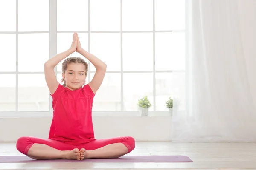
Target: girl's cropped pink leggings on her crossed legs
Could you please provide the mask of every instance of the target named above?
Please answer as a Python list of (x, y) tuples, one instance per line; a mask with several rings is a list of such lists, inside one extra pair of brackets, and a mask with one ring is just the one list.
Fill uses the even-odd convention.
[(29, 137), (29, 136), (23, 136), (20, 137), (17, 140), (16, 147), (17, 150), (23, 153), (24, 155), (27, 155), (30, 147), (34, 144), (46, 144), (50, 147), (53, 147), (58, 150), (73, 150), (75, 148), (78, 148), (79, 150), (81, 148), (84, 148), (85, 150), (95, 150), (100, 147), (104, 147), (108, 144), (114, 144), (114, 143), (122, 143), (127, 147), (128, 153), (134, 150), (135, 147), (135, 141), (134, 138), (130, 136), (125, 137), (116, 137), (116, 138), (110, 138), (110, 139), (95, 139), (88, 143), (83, 144), (67, 144), (61, 141), (56, 141), (52, 139), (41, 139), (41, 138), (35, 138), (35, 137)]

